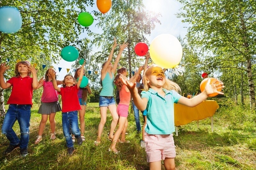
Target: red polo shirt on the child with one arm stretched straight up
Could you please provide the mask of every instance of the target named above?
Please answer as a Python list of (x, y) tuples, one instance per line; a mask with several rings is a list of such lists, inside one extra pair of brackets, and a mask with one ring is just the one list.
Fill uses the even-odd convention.
[(61, 101), (62, 101), (62, 112), (72, 112), (81, 110), (81, 106), (77, 96), (77, 85), (69, 87), (60, 87)]

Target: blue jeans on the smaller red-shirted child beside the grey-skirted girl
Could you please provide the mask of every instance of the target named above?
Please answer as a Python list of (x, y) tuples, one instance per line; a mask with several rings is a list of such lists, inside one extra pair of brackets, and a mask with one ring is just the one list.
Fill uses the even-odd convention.
[(64, 137), (66, 138), (67, 147), (73, 147), (71, 133), (75, 135), (76, 138), (81, 136), (78, 128), (77, 111), (62, 112), (62, 129)]

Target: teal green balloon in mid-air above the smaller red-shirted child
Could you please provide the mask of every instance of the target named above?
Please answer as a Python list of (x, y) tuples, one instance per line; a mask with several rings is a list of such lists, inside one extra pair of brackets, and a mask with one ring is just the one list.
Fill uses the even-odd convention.
[(60, 56), (63, 58), (63, 60), (72, 62), (78, 58), (79, 52), (76, 47), (67, 46), (61, 50)]

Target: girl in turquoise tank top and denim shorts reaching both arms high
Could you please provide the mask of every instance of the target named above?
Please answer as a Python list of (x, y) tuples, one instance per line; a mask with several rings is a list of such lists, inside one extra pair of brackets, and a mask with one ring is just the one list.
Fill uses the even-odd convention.
[(102, 82), (102, 90), (100, 92), (100, 102), (99, 102), (99, 107), (100, 107), (100, 124), (98, 128), (98, 137), (96, 141), (94, 141), (94, 144), (98, 146), (100, 144), (101, 140), (101, 134), (103, 132), (104, 125), (107, 120), (107, 110), (109, 109), (111, 115), (112, 115), (112, 122), (110, 126), (110, 132), (108, 136), (108, 140), (112, 140), (113, 138), (113, 133), (117, 125), (118, 121), (118, 115), (116, 113), (116, 101), (114, 99), (114, 73), (116, 72), (117, 64), (119, 62), (119, 59), (121, 57), (121, 54), (128, 46), (128, 43), (123, 43), (120, 45), (119, 53), (116, 56), (116, 61), (114, 65), (110, 63), (113, 57), (114, 49), (116, 48), (116, 38), (114, 39), (114, 45), (110, 51), (110, 54), (108, 56), (108, 60), (102, 64), (102, 69), (100, 71), (101, 76), (100, 80)]

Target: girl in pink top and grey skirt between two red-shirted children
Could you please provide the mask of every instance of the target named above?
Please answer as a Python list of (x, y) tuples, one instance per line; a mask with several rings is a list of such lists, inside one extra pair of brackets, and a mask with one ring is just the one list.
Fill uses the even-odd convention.
[[(42, 140), (44, 127), (48, 120), (48, 115), (49, 115), (49, 122), (51, 125), (51, 130), (52, 130), (50, 139), (52, 139), (52, 140), (56, 139), (55, 115), (56, 115), (56, 112), (61, 111), (61, 108), (60, 108), (60, 103), (59, 103), (59, 98), (58, 98), (58, 92), (53, 87), (52, 77), (49, 73), (49, 70), (52, 70), (53, 72), (55, 72), (55, 70), (53, 68), (48, 69), (44, 75), (44, 79), (41, 78), (41, 80), (39, 81), (39, 86), (36, 88), (36, 89), (39, 89), (40, 87), (43, 86), (43, 94), (41, 97), (42, 103), (37, 112), (39, 114), (42, 114), (42, 119), (39, 124), (38, 136), (35, 141), (35, 144), (39, 144), (39, 142), (41, 142), (41, 140)], [(56, 79), (56, 75), (55, 75), (55, 79)], [(57, 80), (57, 85), (61, 85), (61, 84), (62, 84), (62, 81)]]

